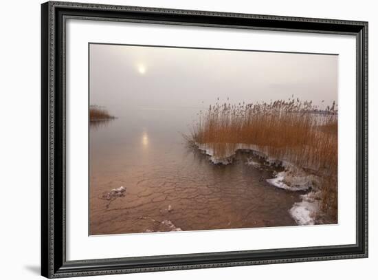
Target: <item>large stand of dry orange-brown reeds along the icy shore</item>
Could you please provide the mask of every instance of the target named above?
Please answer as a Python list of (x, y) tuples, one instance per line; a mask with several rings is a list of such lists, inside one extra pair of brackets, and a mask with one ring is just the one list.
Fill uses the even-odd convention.
[[(219, 98), (218, 98), (219, 100)], [(324, 110), (298, 98), (271, 103), (219, 103), (199, 112), (189, 137), (221, 158), (236, 144), (256, 145), (320, 176), (322, 210), (337, 217), (337, 105)]]

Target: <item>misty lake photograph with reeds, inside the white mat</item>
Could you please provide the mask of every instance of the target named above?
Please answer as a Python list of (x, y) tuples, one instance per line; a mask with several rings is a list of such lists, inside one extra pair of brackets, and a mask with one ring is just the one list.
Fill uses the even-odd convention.
[(337, 224), (337, 54), (88, 48), (89, 235)]

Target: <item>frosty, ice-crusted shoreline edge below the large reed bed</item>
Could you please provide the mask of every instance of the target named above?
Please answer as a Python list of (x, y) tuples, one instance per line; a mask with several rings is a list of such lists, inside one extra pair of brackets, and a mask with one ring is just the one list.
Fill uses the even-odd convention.
[[(227, 149), (225, 156), (222, 158), (216, 157), (214, 149), (207, 144), (195, 143), (195, 146), (201, 153), (208, 155), (210, 162), (213, 164), (228, 165), (234, 162), (234, 158), (238, 151), (251, 153), (252, 156), (258, 158), (259, 161), (249, 158), (247, 164), (260, 169), (262, 166), (282, 167), (283, 171), (275, 172), (274, 177), (266, 181), (272, 186), (286, 191), (308, 191), (308, 193), (301, 195), (302, 202), (296, 202), (289, 209), (289, 214), (296, 221), (298, 225), (313, 225), (317, 222), (317, 217), (320, 212), (320, 191), (316, 184), (319, 178), (315, 175), (306, 173), (298, 166), (294, 166), (285, 160), (278, 160), (269, 158), (258, 146), (252, 144), (232, 144), (232, 149)], [(315, 184), (314, 184), (315, 182)]]

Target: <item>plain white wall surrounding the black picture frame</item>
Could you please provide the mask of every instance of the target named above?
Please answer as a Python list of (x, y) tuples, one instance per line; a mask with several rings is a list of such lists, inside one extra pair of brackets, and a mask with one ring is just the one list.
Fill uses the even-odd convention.
[[(375, 1), (91, 1), (131, 6), (216, 10), (369, 21), (370, 257), (206, 270), (129, 274), (128, 279), (376, 279), (377, 27)], [(40, 266), (41, 1), (3, 1), (0, 17), (0, 278), (36, 279)], [(124, 275), (102, 279), (124, 279)], [(96, 279), (100, 277), (96, 277)]]

